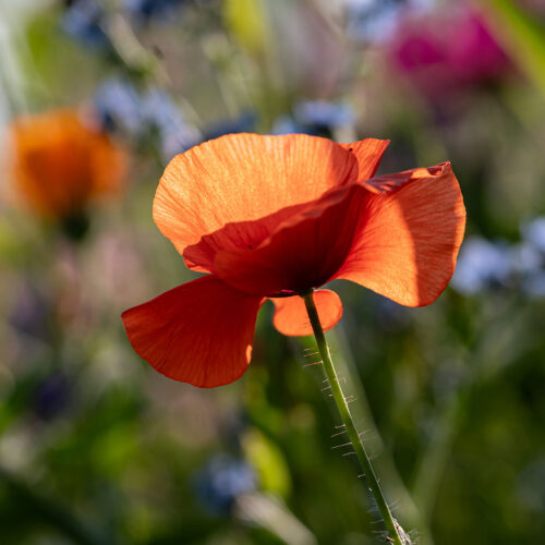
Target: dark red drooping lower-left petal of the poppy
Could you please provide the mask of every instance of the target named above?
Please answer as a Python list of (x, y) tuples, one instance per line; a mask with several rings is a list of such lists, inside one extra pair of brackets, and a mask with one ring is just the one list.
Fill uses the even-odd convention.
[(121, 317), (132, 347), (155, 370), (174, 380), (213, 388), (246, 371), (262, 301), (205, 276)]

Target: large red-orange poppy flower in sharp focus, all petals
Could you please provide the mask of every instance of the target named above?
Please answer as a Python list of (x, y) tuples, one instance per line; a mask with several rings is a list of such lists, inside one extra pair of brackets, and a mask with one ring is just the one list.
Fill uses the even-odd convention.
[[(312, 332), (299, 293), (346, 279), (421, 306), (447, 286), (465, 210), (450, 164), (374, 178), (388, 142), (302, 134), (232, 134), (177, 156), (154, 219), (193, 270), (207, 276), (122, 315), (134, 350), (199, 387), (246, 370), (266, 299), (284, 335)], [(315, 293), (326, 329), (337, 294)]]

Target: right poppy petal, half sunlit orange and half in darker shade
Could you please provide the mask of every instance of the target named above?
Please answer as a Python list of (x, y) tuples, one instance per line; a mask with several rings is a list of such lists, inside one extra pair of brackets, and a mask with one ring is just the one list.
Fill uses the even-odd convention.
[(397, 303), (424, 306), (446, 288), (465, 228), (465, 208), (450, 164), (366, 182), (372, 197), (354, 245), (335, 278)]

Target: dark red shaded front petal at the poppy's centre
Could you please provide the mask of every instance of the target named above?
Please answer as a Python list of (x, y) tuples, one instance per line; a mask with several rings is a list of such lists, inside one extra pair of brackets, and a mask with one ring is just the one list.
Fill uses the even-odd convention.
[(257, 249), (219, 251), (215, 274), (241, 291), (271, 298), (323, 286), (344, 263), (368, 195), (361, 184), (331, 190)]

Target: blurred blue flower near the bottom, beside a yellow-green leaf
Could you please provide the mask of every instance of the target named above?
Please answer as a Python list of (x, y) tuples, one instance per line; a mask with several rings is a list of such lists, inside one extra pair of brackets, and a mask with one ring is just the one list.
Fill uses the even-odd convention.
[(194, 486), (209, 511), (228, 514), (239, 495), (255, 491), (256, 477), (246, 462), (218, 455), (196, 474)]

